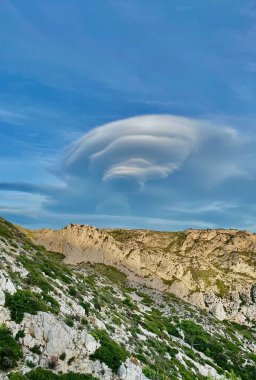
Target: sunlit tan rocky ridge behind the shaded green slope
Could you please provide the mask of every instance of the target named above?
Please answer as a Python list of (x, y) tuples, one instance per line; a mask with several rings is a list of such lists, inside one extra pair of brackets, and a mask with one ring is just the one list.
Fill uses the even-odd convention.
[(256, 320), (256, 234), (238, 230), (98, 229), (69, 225), (28, 232), (65, 262), (113, 265), (130, 279), (168, 291), (220, 320)]

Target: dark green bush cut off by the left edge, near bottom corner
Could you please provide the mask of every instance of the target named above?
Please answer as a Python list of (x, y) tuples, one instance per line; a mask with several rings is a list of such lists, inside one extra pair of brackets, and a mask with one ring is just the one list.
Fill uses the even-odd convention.
[(9, 370), (14, 368), (19, 359), (22, 358), (20, 344), (13, 338), (10, 330), (0, 326), (0, 369)]

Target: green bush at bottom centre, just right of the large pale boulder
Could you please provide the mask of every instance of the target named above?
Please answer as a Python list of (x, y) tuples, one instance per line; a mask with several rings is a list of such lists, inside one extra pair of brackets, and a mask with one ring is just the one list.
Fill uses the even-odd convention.
[(128, 352), (114, 342), (104, 330), (94, 331), (93, 335), (100, 341), (101, 346), (90, 358), (105, 363), (117, 373), (120, 365), (127, 359)]

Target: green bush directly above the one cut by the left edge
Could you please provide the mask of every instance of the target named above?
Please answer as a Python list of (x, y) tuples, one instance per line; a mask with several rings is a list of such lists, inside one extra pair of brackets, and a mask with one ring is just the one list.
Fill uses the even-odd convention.
[(24, 313), (35, 315), (38, 311), (47, 311), (40, 295), (29, 290), (17, 290), (13, 295), (6, 293), (5, 306), (10, 310), (11, 318), (16, 323), (22, 321)]

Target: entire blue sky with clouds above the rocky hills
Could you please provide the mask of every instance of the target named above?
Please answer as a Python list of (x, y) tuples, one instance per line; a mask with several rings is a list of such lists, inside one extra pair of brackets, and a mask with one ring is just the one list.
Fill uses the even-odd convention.
[(256, 4), (1, 0), (0, 215), (256, 232)]

